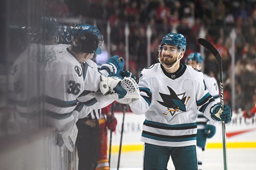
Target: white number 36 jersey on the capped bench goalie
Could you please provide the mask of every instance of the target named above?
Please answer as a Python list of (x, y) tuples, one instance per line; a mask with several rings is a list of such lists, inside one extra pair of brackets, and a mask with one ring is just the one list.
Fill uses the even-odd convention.
[(76, 98), (84, 90), (84, 70), (67, 48), (51, 48), (45, 57), (46, 121), (61, 130), (74, 121), (73, 111), (83, 108)]

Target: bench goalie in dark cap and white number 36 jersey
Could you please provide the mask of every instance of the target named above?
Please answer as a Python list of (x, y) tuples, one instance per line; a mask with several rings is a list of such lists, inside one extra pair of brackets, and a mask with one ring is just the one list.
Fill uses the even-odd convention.
[[(129, 93), (119, 85), (121, 79), (101, 76), (97, 68), (94, 69), (85, 63), (86, 60), (92, 58), (93, 54), (97, 54), (97, 50), (100, 49), (98, 46), (99, 37), (96, 36), (95, 33), (85, 31), (76, 34), (72, 39), (72, 44), (69, 48), (51, 48), (46, 54), (47, 65), (45, 69), (47, 80), (47, 122), (56, 127), (59, 131), (64, 129), (63, 132), (67, 132), (67, 134), (70, 131), (68, 130), (70, 128), (67, 126), (70, 125), (71, 129), (73, 129), (77, 118), (83, 118), (90, 113), (91, 108), (88, 107), (98, 101), (94, 97), (89, 101), (77, 104), (77, 100), (81, 101), (79, 100), (80, 98), (78, 98), (81, 97), (80, 95), (91, 91), (98, 91), (98, 96), (100, 97), (108, 92), (111, 92), (111, 96), (114, 96), (115, 99), (129, 96)], [(116, 60), (114, 62), (120, 63), (117, 58), (116, 60), (118, 62)], [(124, 61), (121, 63), (124, 63)], [(108, 65), (109, 67), (111, 66), (112, 69), (113, 63)], [(116, 70), (121, 69), (117, 67), (118, 64), (114, 66)], [(54, 89), (53, 87), (57, 87), (57, 85), (58, 88)], [(84, 87), (86, 87), (86, 91), (84, 91)], [(59, 89), (60, 92), (56, 91)], [(84, 105), (87, 107), (83, 107)], [(99, 108), (101, 107), (105, 106), (101, 104)], [(81, 111), (82, 108), (85, 109), (85, 111)], [(65, 131), (65, 129), (67, 130)]]

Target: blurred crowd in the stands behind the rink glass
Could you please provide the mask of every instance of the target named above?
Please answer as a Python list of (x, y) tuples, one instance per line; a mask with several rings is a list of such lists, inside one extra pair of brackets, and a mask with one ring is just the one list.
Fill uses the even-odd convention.
[[(46, 1), (48, 3), (48, 1)], [(151, 63), (157, 63), (158, 45), (163, 35), (176, 30), (187, 39), (184, 63), (190, 52), (199, 52), (199, 32), (204, 27), (205, 39), (223, 57), (225, 104), (231, 106), (231, 45), (235, 40), (235, 109), (250, 109), (256, 103), (256, 2), (231, 0), (83, 0), (49, 1), (48, 15), (84, 17), (97, 26), (107, 42), (107, 21), (111, 26), (111, 55), (125, 58), (125, 23), (129, 24), (129, 70), (135, 75), (147, 66), (147, 26), (152, 30)], [(58, 10), (53, 10), (56, 8)], [(106, 44), (105, 44), (106, 45)], [(204, 73), (219, 80), (216, 59), (206, 51)]]

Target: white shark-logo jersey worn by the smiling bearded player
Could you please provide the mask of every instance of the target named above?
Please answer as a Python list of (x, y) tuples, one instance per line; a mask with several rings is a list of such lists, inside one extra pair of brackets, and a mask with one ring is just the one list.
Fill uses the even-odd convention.
[(168, 73), (157, 63), (142, 70), (138, 86), (141, 98), (130, 107), (135, 114), (145, 113), (141, 141), (160, 146), (196, 145), (197, 112), (212, 120), (210, 109), (216, 104), (203, 73), (182, 64), (175, 73)]

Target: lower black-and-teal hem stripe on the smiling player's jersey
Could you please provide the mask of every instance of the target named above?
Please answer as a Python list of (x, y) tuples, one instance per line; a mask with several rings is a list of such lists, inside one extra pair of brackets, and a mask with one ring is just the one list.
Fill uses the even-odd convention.
[(188, 141), (188, 140), (195, 140), (196, 134), (191, 135), (181, 135), (181, 136), (168, 136), (168, 135), (160, 135), (152, 132), (148, 132), (145, 130), (142, 130), (143, 137), (147, 137), (150, 139), (160, 140), (160, 141), (168, 141), (168, 142), (182, 142), (182, 141)]

